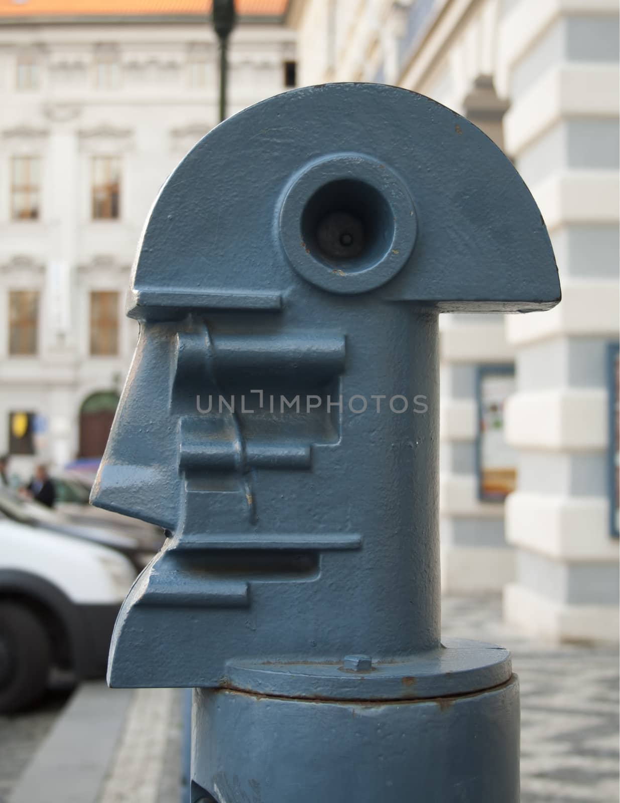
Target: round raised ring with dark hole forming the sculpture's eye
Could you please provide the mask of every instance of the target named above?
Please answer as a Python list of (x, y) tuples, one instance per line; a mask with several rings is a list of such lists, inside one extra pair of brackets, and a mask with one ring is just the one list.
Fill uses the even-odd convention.
[(294, 270), (317, 287), (360, 293), (401, 270), (417, 231), (406, 186), (387, 165), (337, 154), (296, 176), (279, 234)]

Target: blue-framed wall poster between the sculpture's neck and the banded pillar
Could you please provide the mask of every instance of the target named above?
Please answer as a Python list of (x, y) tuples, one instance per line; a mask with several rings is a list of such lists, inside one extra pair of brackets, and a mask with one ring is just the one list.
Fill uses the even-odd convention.
[(504, 437), (504, 406), (515, 392), (512, 365), (481, 365), (478, 369), (478, 495), (503, 502), (516, 487), (516, 451)]

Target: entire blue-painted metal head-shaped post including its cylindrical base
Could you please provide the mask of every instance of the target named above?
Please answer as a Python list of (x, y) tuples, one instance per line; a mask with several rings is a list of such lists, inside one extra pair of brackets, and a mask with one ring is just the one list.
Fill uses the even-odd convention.
[(440, 638), (437, 318), (559, 298), (511, 163), (413, 92), (276, 96), (169, 177), (93, 502), (169, 530), (109, 682), (196, 689), (192, 803), (518, 801), (510, 656)]

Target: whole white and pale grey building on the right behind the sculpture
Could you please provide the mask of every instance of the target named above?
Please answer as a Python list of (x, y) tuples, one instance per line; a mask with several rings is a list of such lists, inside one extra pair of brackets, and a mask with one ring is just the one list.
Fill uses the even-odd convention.
[(530, 633), (618, 638), (618, 3), (292, 0), (288, 21), (301, 85), (422, 92), (532, 190), (561, 305), (440, 316), (443, 583), (506, 586)]

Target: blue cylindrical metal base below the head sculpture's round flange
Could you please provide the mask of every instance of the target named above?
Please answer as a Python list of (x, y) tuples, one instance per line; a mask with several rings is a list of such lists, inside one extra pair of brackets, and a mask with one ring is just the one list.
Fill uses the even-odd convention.
[(192, 803), (518, 803), (518, 681), (377, 703), (197, 689), (192, 778)]

